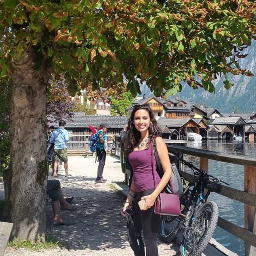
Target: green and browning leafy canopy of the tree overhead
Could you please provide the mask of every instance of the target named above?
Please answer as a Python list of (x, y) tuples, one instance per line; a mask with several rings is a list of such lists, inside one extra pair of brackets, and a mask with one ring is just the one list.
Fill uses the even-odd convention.
[[(119, 88), (133, 95), (137, 80), (156, 96), (185, 81), (213, 92), (212, 80), (241, 70), (256, 32), (256, 3), (248, 0), (5, 0), (0, 3), (0, 74), (32, 48), (34, 68), (45, 58), (65, 73), (69, 91)], [(224, 79), (224, 85), (232, 84)]]

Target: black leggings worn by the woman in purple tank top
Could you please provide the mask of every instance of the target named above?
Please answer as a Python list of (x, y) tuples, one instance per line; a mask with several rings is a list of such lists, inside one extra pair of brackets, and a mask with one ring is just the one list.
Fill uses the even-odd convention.
[[(138, 201), (140, 201), (140, 198), (142, 198), (142, 196), (148, 196), (153, 191), (154, 188), (138, 192), (134, 204), (138, 205)], [(152, 206), (146, 211), (142, 211), (139, 208), (138, 210), (140, 211), (140, 220), (138, 219), (139, 214), (136, 214), (136, 224), (141, 225), (142, 228), (143, 237), (146, 244), (146, 256), (158, 256), (157, 236), (159, 232), (160, 215), (154, 213), (154, 206)], [(135, 256), (140, 255), (135, 254)]]

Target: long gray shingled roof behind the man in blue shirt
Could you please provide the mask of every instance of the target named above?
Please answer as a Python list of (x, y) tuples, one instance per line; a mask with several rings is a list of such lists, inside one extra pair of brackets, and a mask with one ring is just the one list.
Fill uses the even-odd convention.
[[(110, 128), (124, 128), (128, 124), (129, 116), (86, 116), (84, 112), (74, 112), (72, 120), (66, 121), (66, 128), (84, 128), (88, 125), (97, 127), (103, 122)], [(50, 124), (58, 127), (58, 122)]]

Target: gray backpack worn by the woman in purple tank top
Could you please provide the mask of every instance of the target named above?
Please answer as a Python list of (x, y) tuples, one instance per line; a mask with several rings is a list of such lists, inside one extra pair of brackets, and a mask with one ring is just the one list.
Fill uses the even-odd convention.
[[(154, 140), (153, 148), (156, 158), (156, 170), (160, 178), (162, 178), (162, 176), (164, 175), (164, 170), (160, 163), (158, 152), (156, 149), (156, 140)], [(180, 197), (183, 192), (183, 180), (180, 177), (179, 171), (177, 169), (178, 158), (172, 153), (168, 153), (168, 155), (172, 166), (172, 177), (170, 178), (170, 182), (168, 182), (168, 184), (166, 185), (164, 192), (168, 194), (175, 194)]]

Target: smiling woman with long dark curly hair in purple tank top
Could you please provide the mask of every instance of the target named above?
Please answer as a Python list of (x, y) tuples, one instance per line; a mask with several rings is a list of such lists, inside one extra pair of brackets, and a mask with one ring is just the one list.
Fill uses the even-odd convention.
[[(146, 243), (146, 256), (158, 256), (157, 236), (160, 215), (154, 213), (153, 206), (157, 196), (165, 188), (172, 175), (168, 150), (160, 135), (161, 130), (151, 108), (148, 105), (135, 106), (128, 121), (127, 136), (130, 140), (125, 149), (125, 154), (133, 168), (133, 178), (122, 214), (124, 215), (126, 208), (132, 204), (134, 194), (136, 194), (136, 204), (141, 199), (145, 200), (144, 209), (140, 211), (140, 219)], [(155, 173), (156, 188), (152, 171), (154, 152), (151, 147), (154, 139), (164, 170), (162, 179), (157, 172)], [(156, 165), (155, 159), (154, 164)]]

